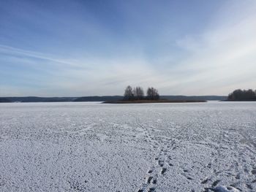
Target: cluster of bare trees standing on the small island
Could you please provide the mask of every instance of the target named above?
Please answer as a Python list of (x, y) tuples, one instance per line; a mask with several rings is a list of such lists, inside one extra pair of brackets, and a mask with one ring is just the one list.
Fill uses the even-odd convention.
[(144, 94), (143, 88), (140, 86), (132, 88), (130, 85), (127, 86), (124, 90), (124, 100), (158, 100), (159, 99), (159, 93), (157, 89), (151, 87), (148, 88), (146, 92), (146, 96)]

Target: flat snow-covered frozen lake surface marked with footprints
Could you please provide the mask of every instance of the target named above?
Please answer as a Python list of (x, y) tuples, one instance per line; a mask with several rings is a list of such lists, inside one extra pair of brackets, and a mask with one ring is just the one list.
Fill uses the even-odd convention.
[(256, 102), (0, 104), (0, 191), (256, 191)]

